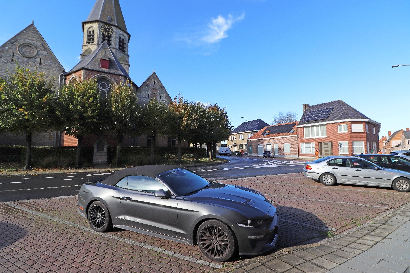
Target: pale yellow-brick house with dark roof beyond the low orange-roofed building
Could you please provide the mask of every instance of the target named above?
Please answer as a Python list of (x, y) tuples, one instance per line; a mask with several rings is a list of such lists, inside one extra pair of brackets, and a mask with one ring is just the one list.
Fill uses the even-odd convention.
[(232, 151), (244, 150), (244, 153), (255, 154), (256, 150), (254, 149), (256, 146), (255, 148), (252, 147), (252, 150), (248, 152), (248, 138), (266, 126), (269, 126), (269, 124), (261, 119), (243, 122), (241, 125), (232, 130), (228, 140), (226, 140), (226, 147)]

